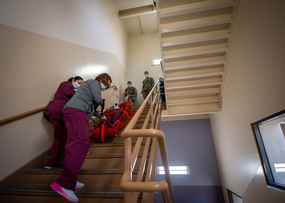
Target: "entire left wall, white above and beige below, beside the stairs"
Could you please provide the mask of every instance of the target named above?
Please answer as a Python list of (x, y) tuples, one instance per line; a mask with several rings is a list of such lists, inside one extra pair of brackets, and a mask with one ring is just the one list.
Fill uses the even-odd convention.
[[(76, 12), (75, 8), (63, 8), (66, 1), (17, 2), (19, 5), (15, 1), (0, 3), (0, 67), (1, 77), (5, 78), (0, 90), (0, 120), (47, 105), (60, 82), (73, 76), (87, 80), (107, 72), (112, 84), (125, 88), (127, 36), (122, 24), (114, 26), (121, 21), (113, 19), (119, 18), (107, 1), (70, 1), (67, 7), (76, 5)], [(92, 9), (99, 10), (100, 6), (105, 11), (94, 14)], [(90, 24), (87, 26), (84, 20)], [(91, 31), (89, 26), (96, 29)], [(84, 29), (87, 31), (82, 32)], [(99, 29), (108, 34), (103, 36), (105, 31)], [(105, 51), (92, 47), (96, 42), (98, 49), (105, 45)], [(105, 107), (117, 103), (113, 89), (102, 91), (102, 97), (106, 99)], [(119, 103), (124, 99), (119, 95)], [(51, 146), (52, 126), (42, 115), (36, 113), (0, 126), (0, 180)]]

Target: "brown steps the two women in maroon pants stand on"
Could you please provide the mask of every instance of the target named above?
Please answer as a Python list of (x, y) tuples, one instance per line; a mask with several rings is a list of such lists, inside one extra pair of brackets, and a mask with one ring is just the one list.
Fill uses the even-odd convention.
[[(132, 112), (136, 112), (139, 105), (131, 107)], [(141, 129), (146, 118), (149, 105), (143, 110), (135, 129)], [(129, 113), (130, 117), (133, 114)], [(95, 120), (96, 121), (96, 120)], [(99, 120), (97, 120), (99, 122)], [(127, 125), (128, 118), (124, 121)], [(117, 136), (112, 139), (105, 140), (105, 144), (101, 140), (94, 140), (91, 136), (91, 129), (94, 124), (91, 121), (90, 129), (90, 148), (89, 154), (86, 156), (84, 164), (78, 173), (78, 181), (85, 184), (83, 188), (77, 188), (75, 194), (78, 196), (80, 202), (104, 202), (104, 203), (122, 203), (124, 202), (124, 192), (119, 188), (119, 182), (124, 172), (124, 140), (120, 134), (125, 129), (123, 126), (119, 130)], [(132, 140), (132, 147), (135, 146), (136, 139)], [(145, 142), (143, 142), (143, 146)], [(150, 143), (151, 145), (151, 143)], [(150, 149), (150, 148), (149, 148)], [(140, 154), (143, 148), (140, 149)], [(137, 167), (140, 164), (141, 156), (138, 156), (135, 169), (133, 171), (133, 178), (136, 178)], [(62, 169), (44, 169), (46, 160), (49, 155), (45, 155), (41, 159), (41, 168), (26, 168), (23, 170), (21, 177), (17, 178), (17, 185), (6, 183), (0, 185), (0, 200), (4, 203), (13, 202), (29, 202), (29, 203), (64, 203), (70, 202), (63, 198), (52, 188), (50, 184), (53, 183), (62, 172)], [(64, 157), (62, 157), (63, 165)], [(148, 161), (146, 162), (146, 164)], [(143, 179), (145, 178), (145, 174)], [(5, 185), (6, 187), (3, 187)], [(141, 202), (142, 192), (139, 193), (138, 202)]]

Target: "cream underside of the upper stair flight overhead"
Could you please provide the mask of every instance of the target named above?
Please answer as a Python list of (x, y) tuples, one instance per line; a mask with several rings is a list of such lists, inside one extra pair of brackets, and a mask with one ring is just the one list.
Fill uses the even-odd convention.
[(168, 109), (162, 120), (221, 110), (237, 6), (238, 0), (156, 0)]

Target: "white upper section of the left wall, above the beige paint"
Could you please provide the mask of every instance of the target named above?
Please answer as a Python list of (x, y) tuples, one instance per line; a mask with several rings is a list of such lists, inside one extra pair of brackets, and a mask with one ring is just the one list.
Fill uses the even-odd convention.
[(113, 53), (127, 67), (127, 35), (107, 0), (1, 0), (0, 24)]

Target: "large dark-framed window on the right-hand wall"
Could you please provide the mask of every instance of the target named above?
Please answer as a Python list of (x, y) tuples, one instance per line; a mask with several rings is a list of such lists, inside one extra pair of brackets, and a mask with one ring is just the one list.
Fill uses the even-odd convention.
[(285, 192), (285, 110), (251, 126), (268, 187)]

